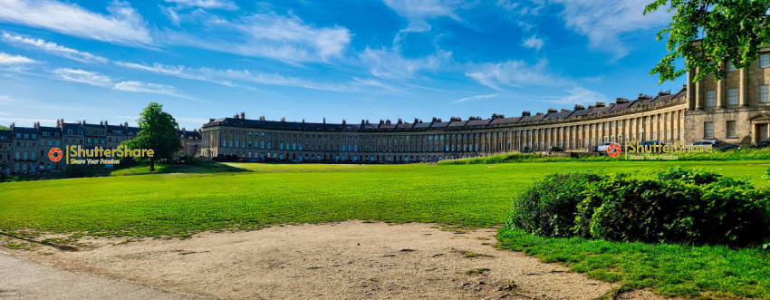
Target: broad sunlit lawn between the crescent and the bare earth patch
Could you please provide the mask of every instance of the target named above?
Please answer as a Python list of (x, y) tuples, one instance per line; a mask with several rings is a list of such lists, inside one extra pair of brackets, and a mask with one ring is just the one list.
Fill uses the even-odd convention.
[(185, 237), (225, 228), (346, 219), (505, 223), (516, 192), (544, 174), (721, 169), (756, 185), (767, 161), (607, 161), (436, 166), (230, 164), (250, 172), (168, 173), (0, 184), (0, 231), (34, 229), (94, 236)]

